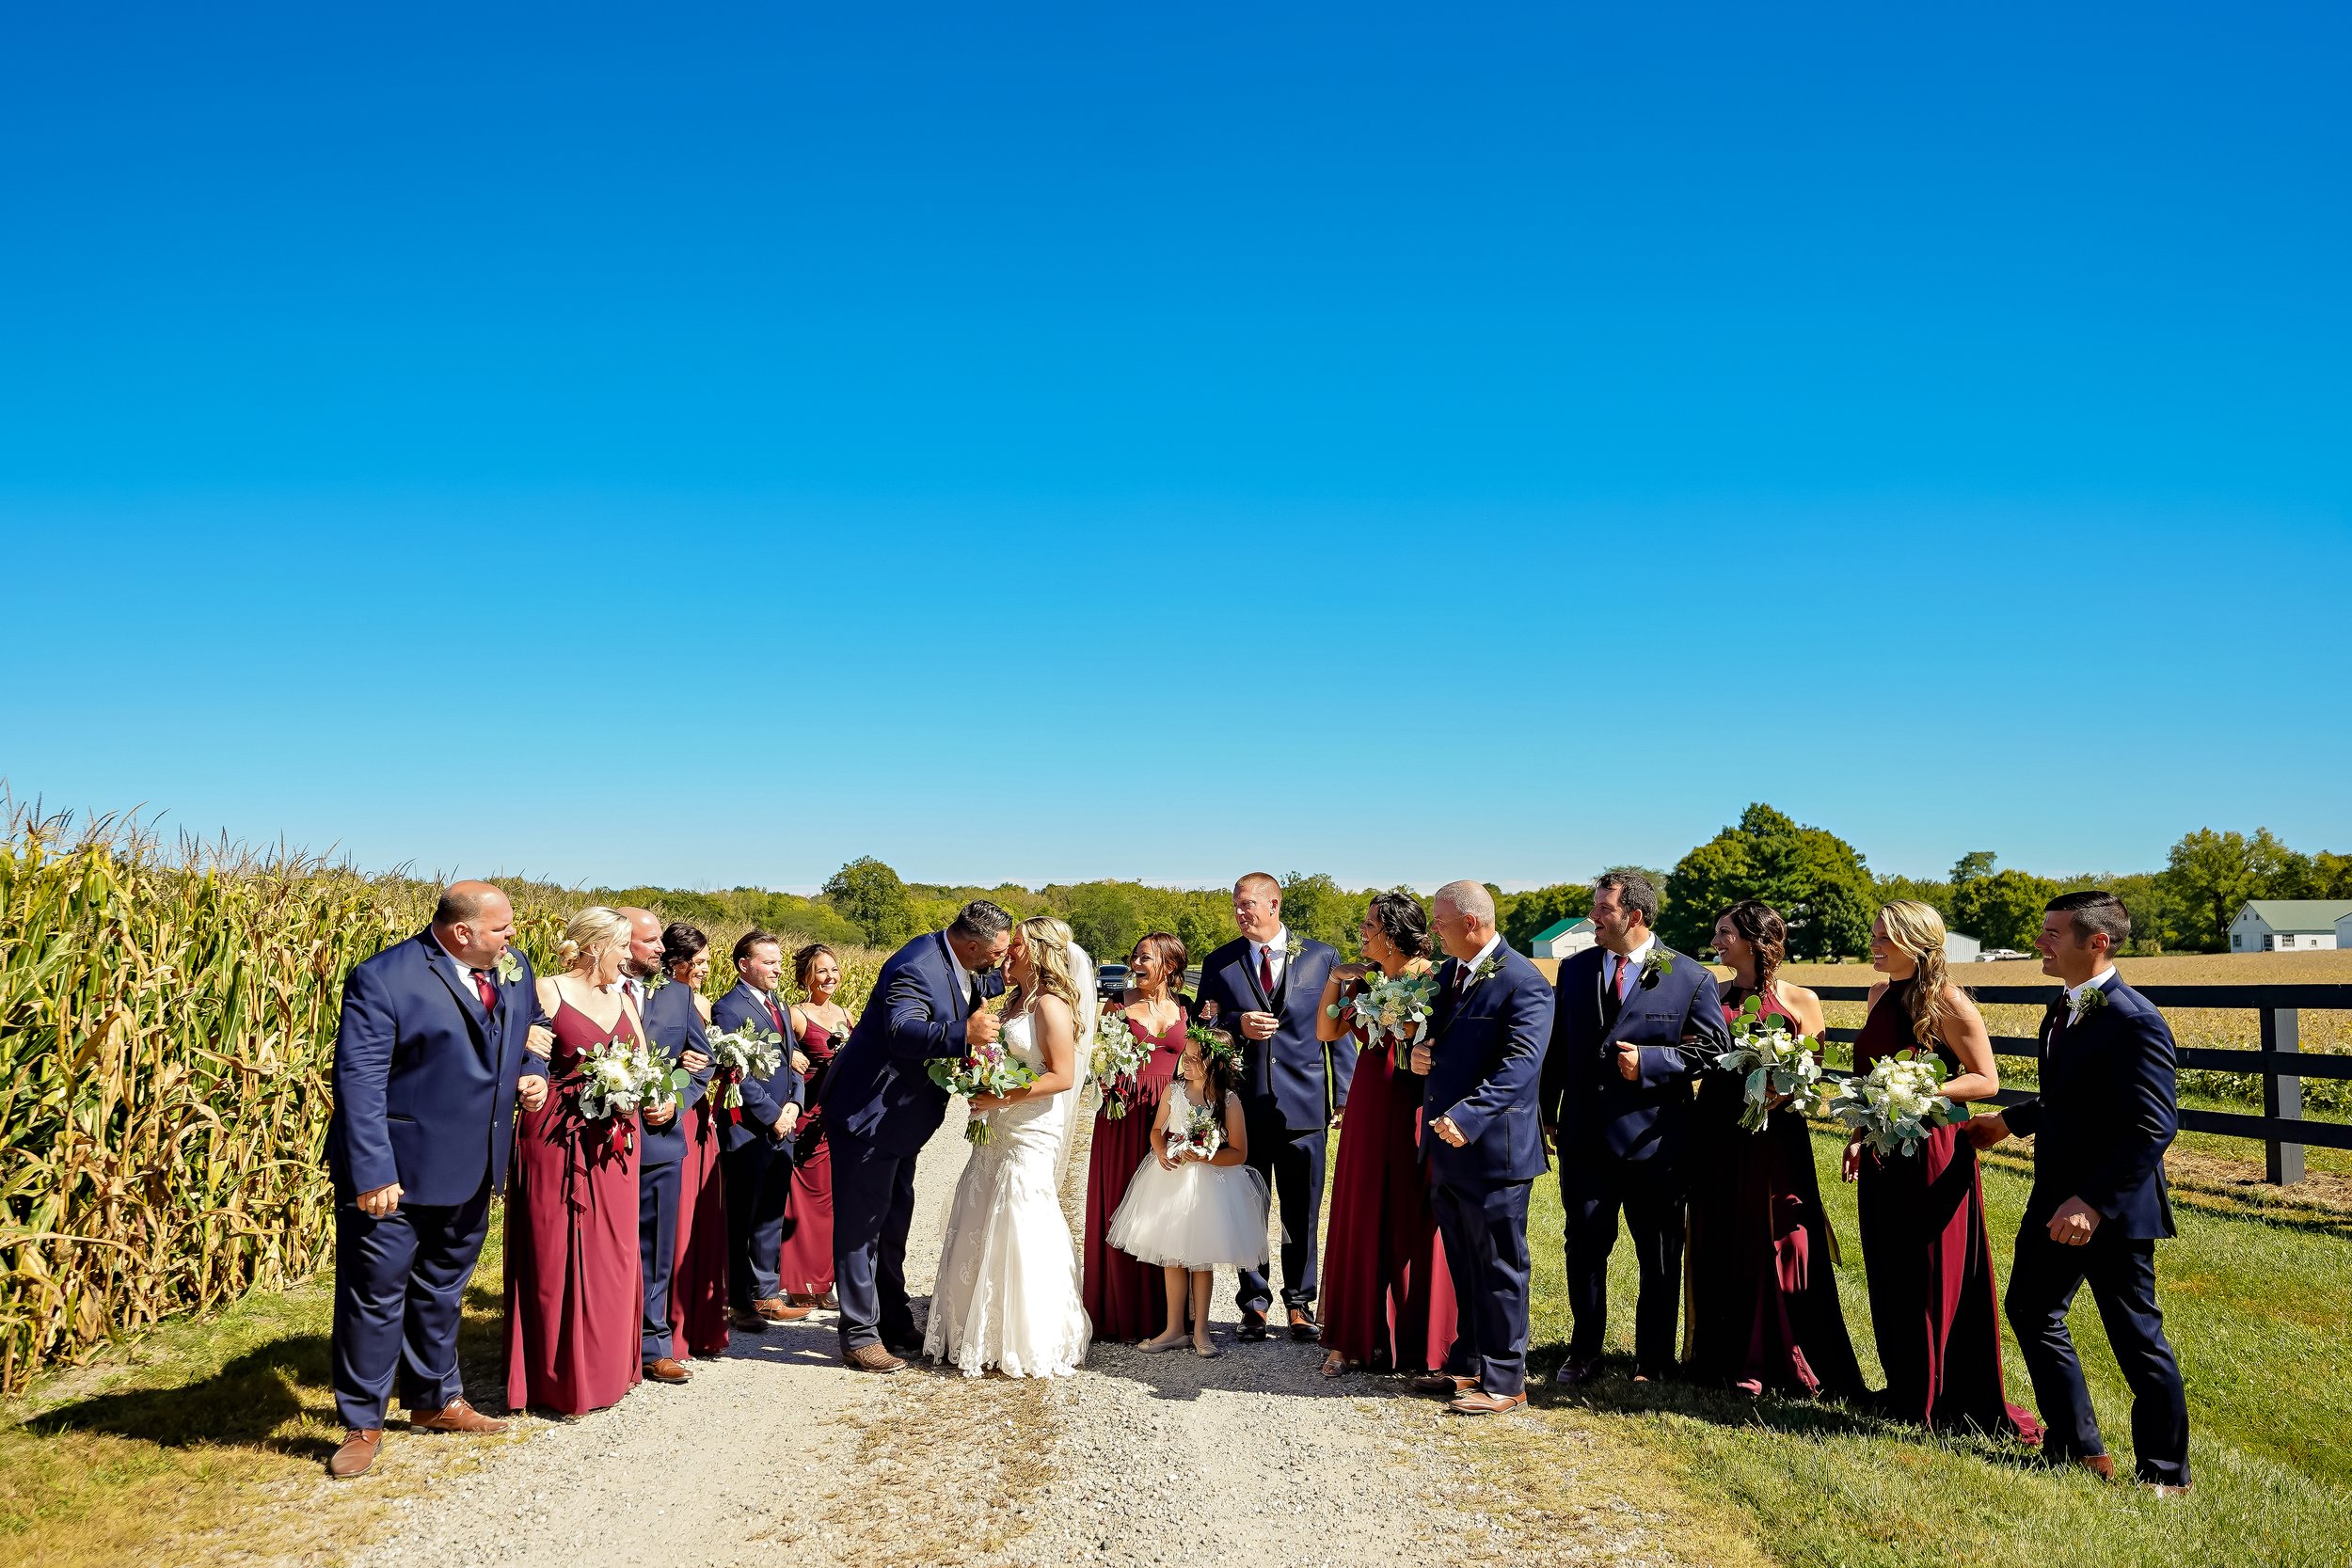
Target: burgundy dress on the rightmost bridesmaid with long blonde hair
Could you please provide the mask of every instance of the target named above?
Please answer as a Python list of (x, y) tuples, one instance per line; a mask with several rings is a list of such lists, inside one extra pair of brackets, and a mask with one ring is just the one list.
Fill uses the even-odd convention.
[[(1853, 1041), (1856, 1072), (1912, 1048), (1910, 985), (1896, 980), (1870, 1009)], [(1959, 1070), (1943, 1044), (1936, 1058), (1947, 1077)], [(1940, 1126), (1910, 1154), (1865, 1152), (1856, 1208), (1886, 1413), (2039, 1441), (2042, 1425), (2002, 1392), (2002, 1302), (1976, 1147), (1957, 1126)]]

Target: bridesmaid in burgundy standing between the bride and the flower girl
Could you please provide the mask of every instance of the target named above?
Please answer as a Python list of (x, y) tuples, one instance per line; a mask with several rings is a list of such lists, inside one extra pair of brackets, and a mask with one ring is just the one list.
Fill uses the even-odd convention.
[[(1080, 1253), (1082, 1305), (1098, 1340), (1150, 1340), (1169, 1312), (1164, 1269), (1136, 1262), (1110, 1246), (1110, 1215), (1127, 1199), (1127, 1182), (1152, 1157), (1152, 1117), (1183, 1056), (1185, 1009), (1176, 997), (1185, 950), (1167, 931), (1152, 931), (1127, 954), (1134, 985), (1120, 994), (1112, 1018), (1124, 1018), (1152, 1051), (1136, 1072), (1136, 1093), (1124, 1117), (1108, 1105), (1094, 1112), (1094, 1147), (1087, 1154), (1087, 1244)], [(1178, 1305), (1178, 1312), (1183, 1307)]]

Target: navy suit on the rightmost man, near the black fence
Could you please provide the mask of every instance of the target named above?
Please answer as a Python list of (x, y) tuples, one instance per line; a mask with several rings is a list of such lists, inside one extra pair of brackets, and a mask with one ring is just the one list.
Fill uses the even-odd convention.
[[(2173, 1234), (2164, 1150), (2180, 1128), (2173, 1098), (2173, 1032), (2147, 997), (2114, 976), (2105, 1006), (2082, 1023), (2053, 1004), (2037, 1056), (2042, 1093), (2002, 1112), (2034, 1140), (2034, 1190), (2009, 1269), (2009, 1326), (2025, 1352), (2042, 1406), (2042, 1453), (2058, 1460), (2105, 1453), (2082, 1361), (2065, 1331), (2084, 1279), (2107, 1326), (2107, 1345), (2131, 1385), (2131, 1448), (2143, 1481), (2187, 1486), (2190, 1408), (2180, 1363), (2157, 1312), (2157, 1239)], [(2051, 1241), (2060, 1204), (2098, 1211), (2084, 1246)]]

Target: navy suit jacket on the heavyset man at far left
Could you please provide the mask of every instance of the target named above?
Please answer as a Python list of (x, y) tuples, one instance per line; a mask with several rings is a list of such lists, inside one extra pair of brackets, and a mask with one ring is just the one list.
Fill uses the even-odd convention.
[(522, 1046), (539, 1023), (532, 961), (499, 983), (499, 1006), (463, 985), (433, 929), (393, 943), (343, 978), (334, 1032), (327, 1175), (339, 1204), (388, 1182), (400, 1201), (463, 1204), (506, 1182), (515, 1084), (546, 1077)]

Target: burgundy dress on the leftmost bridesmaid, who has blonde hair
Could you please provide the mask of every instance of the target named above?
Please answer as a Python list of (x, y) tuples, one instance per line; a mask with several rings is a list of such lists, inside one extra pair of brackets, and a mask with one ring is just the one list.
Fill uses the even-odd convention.
[(581, 1117), (581, 1056), (633, 1039), (628, 1013), (600, 1030), (555, 1006), (548, 1103), (515, 1126), (506, 1194), (506, 1403), (583, 1415), (642, 1378), (644, 1269), (637, 1253), (637, 1140), (630, 1112)]

